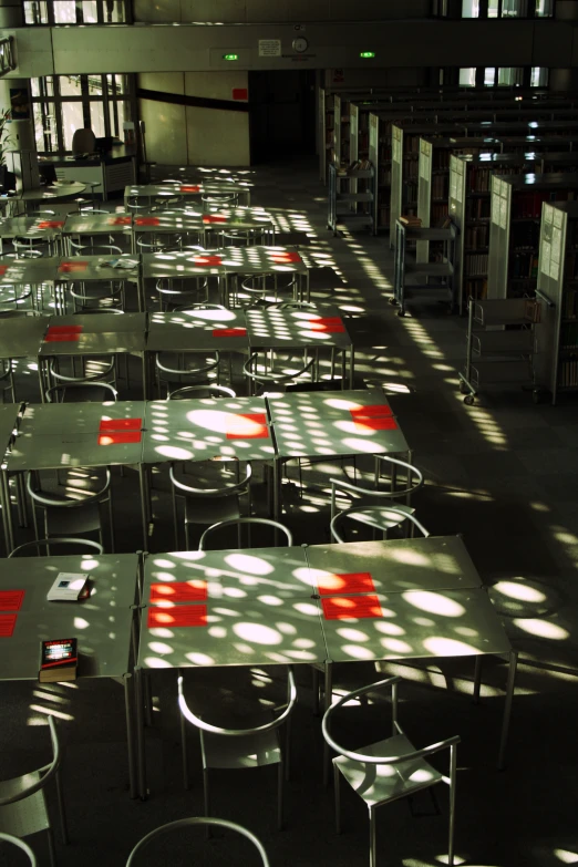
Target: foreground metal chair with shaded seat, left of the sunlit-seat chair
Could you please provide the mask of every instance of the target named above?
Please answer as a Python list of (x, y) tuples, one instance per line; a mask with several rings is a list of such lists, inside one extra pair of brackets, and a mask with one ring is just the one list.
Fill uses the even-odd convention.
[[(278, 765), (277, 826), (283, 827), (283, 781), (289, 776), (289, 718), (297, 702), (297, 688), (291, 667), (287, 667), (287, 705), (279, 716), (246, 729), (225, 729), (202, 720), (189, 709), (183, 694), (183, 675), (178, 677), (178, 706), (180, 710), (180, 737), (183, 746), (183, 778), (188, 788), (188, 766), (185, 720), (199, 730), (203, 760), (203, 794), (205, 815), (209, 815), (208, 772), (210, 768), (241, 770)], [(262, 716), (261, 716), (262, 719)], [(279, 737), (280, 726), (287, 723), (285, 756)], [(228, 739), (228, 741), (226, 740)]]

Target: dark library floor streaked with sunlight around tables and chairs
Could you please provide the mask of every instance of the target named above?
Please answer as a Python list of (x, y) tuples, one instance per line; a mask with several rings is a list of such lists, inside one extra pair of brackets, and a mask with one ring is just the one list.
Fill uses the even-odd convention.
[[(560, 867), (578, 864), (578, 399), (556, 407), (534, 405), (522, 391), (483, 395), (465, 406), (456, 369), (465, 349), (465, 321), (435, 300), (420, 300), (401, 319), (388, 303), (393, 258), (386, 237), (333, 238), (326, 228), (326, 190), (311, 161), (273, 165), (252, 173), (252, 204), (285, 210), (281, 242), (310, 242), (319, 268), (316, 298), (338, 302), (353, 319), (359, 382), (385, 386), (415, 463), (427, 484), (414, 505), (434, 535), (464, 535), (468, 550), (519, 651), (507, 770), (498, 772), (505, 665), (484, 668), (483, 701), (474, 705), (472, 665), (390, 665), (401, 674), (401, 719), (414, 743), (460, 734), (456, 864), (471, 867)], [(309, 236), (309, 237), (306, 237)], [(121, 395), (126, 396), (126, 395)], [(328, 513), (300, 510), (286, 520), (296, 541), (328, 539)], [(134, 527), (116, 509), (122, 550), (138, 547)], [(126, 518), (124, 524), (127, 525)], [(155, 530), (156, 533), (156, 530)], [(161, 525), (154, 550), (171, 550), (169, 523)], [(272, 693), (282, 671), (270, 672)], [(374, 668), (355, 663), (338, 670), (336, 689), (370, 683)], [(153, 680), (154, 726), (146, 733), (149, 798), (127, 793), (122, 688), (112, 681), (79, 681), (75, 689), (2, 683), (0, 777), (39, 767), (48, 760), (47, 714), (54, 714), (65, 745), (64, 793), (71, 844), (59, 845), (61, 867), (122, 867), (135, 843), (158, 825), (202, 814), (198, 742), (192, 732), (192, 787), (180, 774), (176, 678)], [(190, 675), (199, 703), (218, 695), (226, 705), (249, 706), (249, 672), (204, 671)], [(332, 792), (322, 785), (320, 721), (311, 713), (311, 677), (298, 670), (299, 705), (292, 727), (292, 775), (287, 784), (287, 828), (276, 830), (272, 768), (215, 772), (213, 814), (237, 820), (262, 840), (272, 867), (358, 867), (369, 860), (369, 826), (362, 803), (343, 791), (343, 834), (333, 830)], [(386, 709), (359, 710), (360, 746), (384, 736)], [(367, 721), (365, 721), (367, 718)], [(358, 719), (358, 718), (355, 718)], [(375, 724), (375, 720), (378, 720)], [(380, 865), (437, 867), (446, 863), (447, 797), (441, 815), (427, 793), (409, 805), (384, 807), (378, 818)], [(58, 839), (58, 837), (56, 837)], [(31, 839), (48, 863), (45, 840)], [(0, 861), (23, 864), (19, 855)], [(165, 838), (140, 864), (257, 864), (244, 842), (198, 830)]]

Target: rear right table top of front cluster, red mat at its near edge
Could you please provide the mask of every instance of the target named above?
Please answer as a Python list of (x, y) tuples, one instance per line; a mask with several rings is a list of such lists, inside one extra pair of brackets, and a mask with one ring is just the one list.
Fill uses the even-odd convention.
[(306, 555), (311, 580), (326, 595), (463, 590), (482, 586), (460, 536), (308, 545)]

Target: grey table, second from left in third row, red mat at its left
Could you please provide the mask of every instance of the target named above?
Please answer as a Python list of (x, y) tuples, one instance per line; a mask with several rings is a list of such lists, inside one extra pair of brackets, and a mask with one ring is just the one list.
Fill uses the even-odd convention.
[(146, 313), (76, 313), (52, 317), (38, 352), (42, 394), (52, 384), (50, 362), (62, 357), (137, 355), (143, 392), (148, 392), (145, 363)]

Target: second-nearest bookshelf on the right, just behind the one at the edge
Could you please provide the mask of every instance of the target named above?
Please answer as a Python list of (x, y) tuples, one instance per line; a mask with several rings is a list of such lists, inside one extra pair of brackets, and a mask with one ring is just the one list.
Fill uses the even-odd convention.
[(487, 297), (534, 295), (541, 206), (578, 197), (578, 172), (492, 177)]

